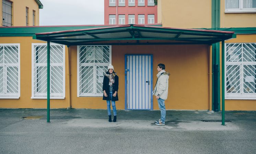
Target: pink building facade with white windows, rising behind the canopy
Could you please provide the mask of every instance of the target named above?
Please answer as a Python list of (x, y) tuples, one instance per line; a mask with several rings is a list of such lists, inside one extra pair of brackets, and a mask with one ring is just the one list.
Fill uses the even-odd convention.
[(104, 25), (156, 23), (154, 0), (104, 0)]

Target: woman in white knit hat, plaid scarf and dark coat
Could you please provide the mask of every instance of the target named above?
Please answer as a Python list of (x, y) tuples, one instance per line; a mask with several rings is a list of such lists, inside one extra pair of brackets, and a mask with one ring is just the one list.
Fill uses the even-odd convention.
[(107, 114), (109, 122), (112, 122), (110, 100), (112, 101), (112, 108), (114, 114), (113, 122), (116, 122), (116, 101), (118, 101), (118, 76), (114, 72), (114, 67), (111, 64), (109, 64), (107, 69), (108, 71), (104, 75), (103, 79), (103, 100), (107, 101)]

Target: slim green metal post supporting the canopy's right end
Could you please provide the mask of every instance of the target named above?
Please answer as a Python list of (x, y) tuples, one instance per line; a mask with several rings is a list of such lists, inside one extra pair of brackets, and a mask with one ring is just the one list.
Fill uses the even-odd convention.
[(221, 117), (222, 125), (225, 125), (225, 40), (221, 41)]

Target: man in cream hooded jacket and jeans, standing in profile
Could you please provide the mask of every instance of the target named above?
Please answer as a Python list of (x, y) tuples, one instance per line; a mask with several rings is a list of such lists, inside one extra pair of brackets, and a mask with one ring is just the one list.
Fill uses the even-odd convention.
[(156, 125), (165, 125), (165, 104), (164, 101), (167, 99), (168, 95), (168, 79), (170, 73), (165, 72), (165, 65), (158, 64), (157, 66), (158, 74), (156, 75), (158, 79), (156, 80), (155, 89), (152, 92), (158, 100), (158, 106), (161, 111), (161, 118), (155, 121)]

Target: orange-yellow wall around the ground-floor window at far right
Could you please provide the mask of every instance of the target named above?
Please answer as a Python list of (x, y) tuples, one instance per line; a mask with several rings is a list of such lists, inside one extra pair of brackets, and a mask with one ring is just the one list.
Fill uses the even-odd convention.
[[(255, 43), (256, 34), (254, 35), (236, 35), (235, 39), (225, 41), (225, 43)], [(220, 66), (221, 63), (221, 43), (220, 43)], [(220, 68), (220, 72), (222, 69)], [(220, 78), (221, 81), (221, 78)], [(221, 91), (220, 91), (221, 93)], [(255, 111), (256, 100), (225, 100), (225, 110), (243, 110), (243, 111)]]

